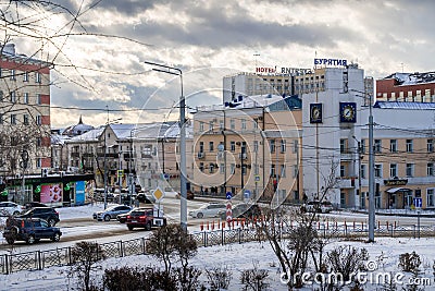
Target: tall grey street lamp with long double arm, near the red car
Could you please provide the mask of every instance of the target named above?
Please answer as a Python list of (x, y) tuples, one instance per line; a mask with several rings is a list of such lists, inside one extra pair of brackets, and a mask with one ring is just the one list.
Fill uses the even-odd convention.
[[(179, 216), (181, 216), (181, 226), (187, 231), (187, 187), (186, 187), (186, 129), (184, 126), (186, 122), (186, 100), (183, 95), (183, 71), (175, 66), (169, 66), (160, 63), (148, 62), (147, 64), (151, 64), (153, 66), (152, 70), (157, 72), (162, 72), (165, 74), (179, 76), (179, 84), (182, 88), (182, 95), (179, 96), (179, 170), (181, 170), (181, 199), (179, 199)], [(158, 69), (160, 68), (160, 69)]]

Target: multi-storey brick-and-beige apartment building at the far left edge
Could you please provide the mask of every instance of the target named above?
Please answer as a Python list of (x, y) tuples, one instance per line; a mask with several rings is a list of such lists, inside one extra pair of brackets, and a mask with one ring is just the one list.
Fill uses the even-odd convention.
[(0, 171), (3, 177), (41, 173), (50, 167), (51, 64), (3, 46), (0, 60)]

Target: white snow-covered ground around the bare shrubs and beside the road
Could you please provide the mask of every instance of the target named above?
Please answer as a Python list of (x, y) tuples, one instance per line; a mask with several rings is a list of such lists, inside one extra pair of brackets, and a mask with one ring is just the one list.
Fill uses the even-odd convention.
[[(59, 208), (61, 219), (73, 219), (89, 217), (94, 211), (101, 209), (102, 205), (82, 206), (71, 208)], [(86, 231), (85, 229), (83, 231)], [(119, 238), (116, 238), (119, 239)], [(102, 241), (114, 241), (113, 237)], [(399, 274), (399, 255), (415, 251), (422, 258), (420, 278), (428, 278), (432, 286), (422, 287), (423, 290), (435, 290), (433, 265), (435, 259), (435, 239), (390, 239), (376, 238), (375, 243), (355, 242), (332, 242), (327, 245), (331, 250), (337, 245), (352, 245), (358, 248), (365, 247), (372, 260), (371, 268), (376, 266), (371, 274), (391, 271)], [(45, 244), (44, 247), (52, 248), (52, 244)], [(149, 266), (156, 262), (154, 258), (138, 255), (123, 258), (109, 258), (101, 263), (103, 268), (115, 266)], [(154, 263), (158, 264), (158, 263)], [(228, 290), (240, 290), (240, 274), (244, 269), (252, 268), (257, 264), (259, 268), (269, 270), (270, 290), (287, 290), (281, 281), (279, 264), (273, 254), (268, 242), (251, 242), (245, 244), (217, 245), (199, 247), (197, 256), (191, 264), (200, 269), (212, 267), (227, 267), (233, 271), (233, 279)], [(0, 290), (72, 290), (74, 281), (70, 281), (65, 271), (69, 267), (50, 267), (40, 271), (20, 271), (11, 275), (0, 275)], [(370, 272), (366, 279), (370, 282)], [(373, 277), (373, 276), (372, 276)], [(373, 277), (374, 278), (374, 277)], [(373, 279), (372, 278), (372, 279)], [(201, 281), (206, 282), (204, 275)], [(374, 280), (372, 280), (374, 282)], [(402, 279), (405, 281), (405, 279)], [(425, 282), (427, 284), (427, 282)], [(314, 286), (307, 286), (302, 290), (313, 290)], [(375, 290), (380, 284), (364, 286), (364, 290)], [(401, 290), (401, 287), (398, 288)]]

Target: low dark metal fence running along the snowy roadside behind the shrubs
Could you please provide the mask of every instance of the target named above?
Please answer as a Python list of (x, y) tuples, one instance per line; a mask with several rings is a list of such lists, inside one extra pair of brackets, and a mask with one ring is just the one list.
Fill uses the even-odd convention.
[[(282, 239), (286, 239), (294, 228), (296, 228), (296, 226), (279, 225), (276, 229), (277, 235)], [(320, 223), (315, 228), (319, 235), (322, 238), (361, 239), (368, 238), (369, 235), (369, 230), (364, 228), (364, 226), (331, 226), (328, 223)], [(197, 242), (198, 246), (204, 247), (265, 240), (265, 238), (253, 227), (201, 231), (194, 232), (190, 235)], [(377, 227), (375, 229), (375, 235), (390, 238), (408, 237), (414, 239), (421, 237), (435, 237), (435, 227)], [(146, 238), (139, 238), (128, 241), (102, 243), (99, 244), (99, 246), (103, 251), (105, 258), (109, 258), (147, 254), (146, 243)], [(52, 266), (69, 266), (74, 264), (72, 250), (73, 246), (69, 246), (47, 251), (0, 255), (0, 271), (1, 274), (11, 274), (21, 270), (42, 270)]]

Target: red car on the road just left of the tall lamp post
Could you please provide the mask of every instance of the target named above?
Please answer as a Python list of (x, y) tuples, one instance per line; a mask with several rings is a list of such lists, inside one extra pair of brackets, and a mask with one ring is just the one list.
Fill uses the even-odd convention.
[(133, 210), (125, 221), (128, 230), (135, 228), (145, 228), (146, 230), (151, 230), (152, 227), (166, 226), (166, 218), (154, 217), (153, 208), (139, 208)]

